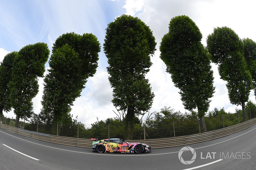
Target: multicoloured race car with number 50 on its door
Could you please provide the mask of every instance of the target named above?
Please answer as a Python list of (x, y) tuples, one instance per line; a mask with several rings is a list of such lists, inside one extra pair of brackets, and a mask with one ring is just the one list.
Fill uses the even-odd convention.
[(129, 143), (122, 139), (95, 139), (92, 142), (93, 152), (105, 153), (105, 152), (118, 152), (118, 153), (147, 153), (151, 152), (151, 147), (147, 144), (141, 143)]

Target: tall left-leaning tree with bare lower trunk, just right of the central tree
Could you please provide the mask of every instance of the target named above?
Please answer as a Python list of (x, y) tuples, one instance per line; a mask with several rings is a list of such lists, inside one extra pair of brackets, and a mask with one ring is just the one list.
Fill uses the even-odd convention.
[(160, 58), (175, 87), (180, 89), (184, 107), (190, 111), (198, 109), (201, 129), (205, 132), (204, 115), (215, 87), (210, 59), (201, 39), (199, 28), (188, 16), (174, 17), (169, 32), (162, 38)]

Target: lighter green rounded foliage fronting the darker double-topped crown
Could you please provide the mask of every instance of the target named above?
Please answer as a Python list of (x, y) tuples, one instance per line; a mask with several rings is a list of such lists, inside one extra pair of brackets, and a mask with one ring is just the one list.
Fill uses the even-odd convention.
[(71, 106), (84, 88), (81, 59), (68, 44), (58, 48), (50, 57), (49, 74), (44, 78), (43, 111), (54, 122), (69, 117)]

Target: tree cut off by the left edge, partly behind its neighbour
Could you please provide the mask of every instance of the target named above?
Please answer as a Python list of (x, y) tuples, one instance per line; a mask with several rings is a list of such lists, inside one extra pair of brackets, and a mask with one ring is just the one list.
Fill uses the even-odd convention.
[(0, 65), (0, 115), (3, 115), (3, 110), (11, 111), (10, 81), (12, 81), (12, 63), (17, 54), (18, 52), (14, 51), (5, 55)]

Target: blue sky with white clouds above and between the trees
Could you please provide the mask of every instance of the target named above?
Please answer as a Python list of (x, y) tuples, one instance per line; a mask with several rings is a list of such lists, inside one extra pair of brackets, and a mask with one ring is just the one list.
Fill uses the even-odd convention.
[[(12, 51), (19, 51), (28, 44), (45, 42), (50, 51), (53, 43), (63, 33), (92, 33), (101, 44), (98, 68), (93, 77), (88, 78), (81, 96), (72, 106), (73, 119), (84, 124), (116, 117), (113, 106), (112, 89), (108, 81), (107, 58), (103, 51), (106, 28), (116, 17), (123, 14), (140, 18), (152, 30), (156, 38), (156, 52), (151, 57), (152, 66), (146, 78), (155, 94), (149, 113), (160, 112), (171, 107), (182, 113), (179, 89), (166, 73), (166, 66), (159, 58), (162, 37), (168, 32), (170, 20), (179, 15), (191, 18), (200, 29), (206, 46), (206, 39), (216, 27), (227, 26), (241, 38), (256, 41), (255, 10), (252, 0), (0, 0), (0, 61)], [(51, 55), (51, 54), (50, 54)], [(226, 82), (220, 79), (218, 67), (212, 65), (215, 93), (210, 99), (209, 111), (224, 108), (235, 113), (241, 106), (230, 104)], [(46, 72), (49, 69), (45, 64)], [(39, 78), (39, 92), (33, 99), (34, 112), (40, 113), (44, 89), (44, 79)], [(251, 91), (249, 100), (255, 102)], [(114, 112), (115, 111), (115, 112)], [(5, 116), (15, 117), (13, 110)]]

